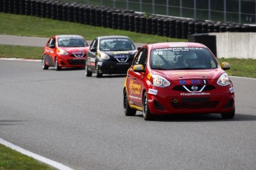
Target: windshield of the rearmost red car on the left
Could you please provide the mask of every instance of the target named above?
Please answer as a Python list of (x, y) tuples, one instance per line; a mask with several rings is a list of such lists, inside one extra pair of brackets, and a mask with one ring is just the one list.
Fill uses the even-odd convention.
[(88, 44), (80, 36), (61, 36), (58, 38), (59, 47), (88, 47)]

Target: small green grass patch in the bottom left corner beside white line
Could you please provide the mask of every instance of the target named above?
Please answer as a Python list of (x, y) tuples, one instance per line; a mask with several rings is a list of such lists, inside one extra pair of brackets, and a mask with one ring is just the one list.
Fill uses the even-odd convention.
[(24, 154), (14, 151), (0, 144), (0, 170), (27, 170), (27, 169), (53, 169), (32, 157), (27, 157)]

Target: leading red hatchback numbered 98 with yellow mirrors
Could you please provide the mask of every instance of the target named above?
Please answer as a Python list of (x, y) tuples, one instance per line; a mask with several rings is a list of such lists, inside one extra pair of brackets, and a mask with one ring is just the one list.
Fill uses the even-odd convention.
[(159, 43), (142, 47), (128, 69), (123, 89), (127, 116), (220, 113), (234, 118), (229, 63), (219, 64), (203, 44)]

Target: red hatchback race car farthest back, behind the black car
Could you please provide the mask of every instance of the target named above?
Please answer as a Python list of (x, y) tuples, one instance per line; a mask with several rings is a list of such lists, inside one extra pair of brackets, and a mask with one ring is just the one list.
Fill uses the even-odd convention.
[(85, 67), (89, 45), (81, 35), (54, 35), (44, 48), (42, 69), (55, 67)]

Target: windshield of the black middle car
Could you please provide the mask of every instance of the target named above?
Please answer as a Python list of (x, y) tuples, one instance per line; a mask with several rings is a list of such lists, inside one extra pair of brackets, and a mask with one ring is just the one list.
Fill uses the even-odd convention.
[(99, 41), (101, 51), (135, 50), (134, 44), (128, 38), (108, 38)]

